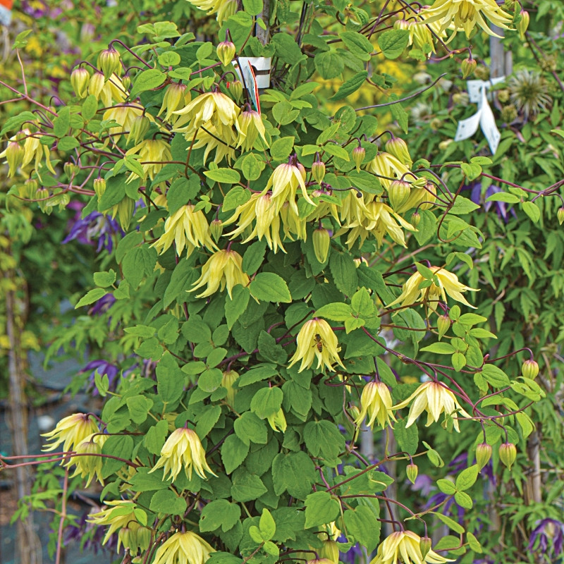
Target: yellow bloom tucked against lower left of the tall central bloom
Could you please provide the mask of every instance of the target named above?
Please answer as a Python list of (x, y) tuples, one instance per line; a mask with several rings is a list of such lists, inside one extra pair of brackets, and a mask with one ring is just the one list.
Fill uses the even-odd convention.
[[(237, 228), (229, 233), (231, 240), (248, 233), (242, 243), (248, 243), (255, 237), (262, 240), (264, 237), (269, 249), (276, 252), (280, 248), (286, 252), (280, 240), (280, 216), (276, 214), (270, 192), (253, 194), (250, 200), (235, 209), (233, 216), (224, 221), (223, 225), (229, 225), (235, 221), (237, 221)], [(253, 222), (255, 226), (251, 229)]]

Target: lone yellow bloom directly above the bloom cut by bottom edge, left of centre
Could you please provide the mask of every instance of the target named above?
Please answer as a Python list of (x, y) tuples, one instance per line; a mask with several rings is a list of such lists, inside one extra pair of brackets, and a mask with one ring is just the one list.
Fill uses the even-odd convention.
[(163, 479), (166, 479), (166, 474), (170, 472), (173, 482), (183, 467), (188, 479), (192, 479), (192, 469), (203, 479), (207, 479), (204, 470), (214, 474), (207, 464), (206, 451), (200, 438), (195, 431), (186, 427), (174, 430), (166, 439), (161, 448), (161, 458), (152, 470), (149, 470), (149, 474), (161, 467), (164, 467)]

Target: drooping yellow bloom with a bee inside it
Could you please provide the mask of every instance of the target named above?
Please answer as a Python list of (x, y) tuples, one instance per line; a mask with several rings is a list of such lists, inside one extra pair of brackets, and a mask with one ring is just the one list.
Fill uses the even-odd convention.
[(339, 358), (338, 352), (341, 348), (338, 346), (337, 336), (325, 319), (314, 317), (314, 319), (306, 321), (298, 333), (296, 345), (296, 351), (290, 358), (288, 368), (301, 360), (302, 364), (300, 364), (298, 372), (302, 372), (302, 370), (311, 367), (316, 358), (318, 370), (327, 367), (328, 370), (334, 372), (332, 365), (335, 362), (341, 367), (345, 367)]

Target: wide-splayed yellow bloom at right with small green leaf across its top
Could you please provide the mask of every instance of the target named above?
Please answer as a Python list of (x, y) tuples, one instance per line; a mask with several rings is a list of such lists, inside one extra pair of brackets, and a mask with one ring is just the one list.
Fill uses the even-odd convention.
[[(396, 304), (400, 304), (402, 307), (406, 305), (415, 304), (418, 300), (426, 302), (431, 309), (436, 310), (439, 298), (446, 302), (446, 295), (450, 295), (450, 298), (460, 302), (468, 307), (474, 307), (470, 305), (466, 298), (462, 295), (462, 292), (470, 290), (471, 292), (477, 292), (475, 288), (470, 288), (465, 286), (458, 281), (458, 276), (441, 268), (440, 266), (430, 266), (429, 269), (433, 272), (433, 283), (427, 288), (419, 288), (419, 285), (425, 280), (419, 271), (412, 274), (403, 285), (402, 293), (398, 295), (396, 300), (393, 300), (388, 307)], [(474, 307), (475, 309), (475, 307)]]

